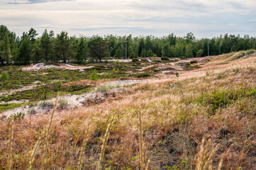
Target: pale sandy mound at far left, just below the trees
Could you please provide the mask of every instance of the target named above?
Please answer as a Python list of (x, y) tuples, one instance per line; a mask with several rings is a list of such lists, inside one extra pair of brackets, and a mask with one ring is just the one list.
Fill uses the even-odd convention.
[(50, 69), (50, 68), (55, 68), (55, 69), (78, 69), (79, 72), (84, 72), (84, 69), (90, 69), (93, 66), (89, 67), (83, 67), (83, 66), (73, 66), (70, 64), (60, 64), (60, 66), (55, 66), (55, 65), (45, 65), (45, 63), (38, 63), (38, 64), (31, 64), (28, 67), (23, 67), (23, 71), (25, 72), (30, 72), (30, 71), (38, 71), (40, 69)]

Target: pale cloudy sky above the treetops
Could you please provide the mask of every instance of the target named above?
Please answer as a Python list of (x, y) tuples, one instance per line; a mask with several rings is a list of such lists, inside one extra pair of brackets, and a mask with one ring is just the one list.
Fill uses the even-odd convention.
[(255, 0), (1, 0), (0, 25), (20, 36), (30, 28), (70, 36), (174, 33), (256, 37)]

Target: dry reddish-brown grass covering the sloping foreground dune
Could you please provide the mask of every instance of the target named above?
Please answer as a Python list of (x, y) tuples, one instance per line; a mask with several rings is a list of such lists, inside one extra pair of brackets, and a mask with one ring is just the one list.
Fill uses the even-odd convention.
[[(57, 112), (33, 168), (43, 166), (46, 145), (45, 169), (255, 169), (256, 57), (232, 57), (133, 86), (118, 100)], [(13, 127), (1, 120), (0, 169), (9, 143), (12, 168), (28, 168), (50, 116), (26, 116)]]

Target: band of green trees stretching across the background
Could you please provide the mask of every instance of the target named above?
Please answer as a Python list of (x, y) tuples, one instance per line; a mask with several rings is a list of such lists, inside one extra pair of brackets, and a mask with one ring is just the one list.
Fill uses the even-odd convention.
[(30, 64), (38, 62), (72, 61), (83, 64), (104, 57), (204, 57), (221, 55), (239, 50), (256, 49), (256, 38), (249, 35), (220, 35), (216, 38), (195, 38), (193, 33), (184, 37), (169, 34), (162, 38), (153, 35), (94, 35), (92, 37), (69, 36), (66, 31), (55, 35), (53, 30), (44, 30), (38, 36), (34, 28), (21, 37), (6, 26), (0, 26), (0, 64)]

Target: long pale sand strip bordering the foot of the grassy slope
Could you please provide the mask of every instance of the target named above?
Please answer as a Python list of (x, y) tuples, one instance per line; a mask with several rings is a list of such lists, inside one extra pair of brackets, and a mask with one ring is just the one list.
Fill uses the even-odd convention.
[[(122, 80), (122, 81), (108, 81), (96, 86), (94, 91), (91, 91), (87, 94), (80, 95), (67, 95), (60, 97), (60, 103), (65, 103), (65, 107), (67, 108), (77, 108), (84, 106), (84, 102), (88, 100), (102, 100), (104, 99), (104, 94), (108, 93), (119, 93), (127, 86), (145, 83), (150, 81), (148, 79), (140, 79), (140, 80)], [(18, 108), (14, 108), (8, 111), (1, 113), (1, 117), (9, 118), (11, 114), (15, 113), (25, 113), (27, 114), (35, 114), (35, 113), (47, 113), (51, 111), (55, 98), (52, 98), (47, 101), (40, 101), (33, 106), (23, 105)], [(17, 103), (17, 102), (15, 102)]]

